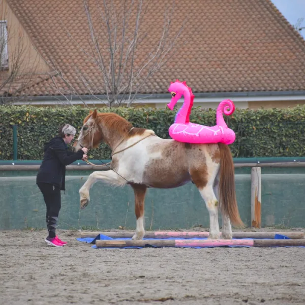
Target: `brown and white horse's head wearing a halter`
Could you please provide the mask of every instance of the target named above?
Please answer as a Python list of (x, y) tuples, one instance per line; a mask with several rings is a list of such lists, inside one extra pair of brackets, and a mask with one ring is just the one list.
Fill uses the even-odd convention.
[(74, 142), (74, 151), (78, 151), (82, 147), (96, 148), (103, 140), (103, 134), (99, 127), (98, 112), (90, 110), (89, 114), (83, 121), (83, 127), (79, 133), (77, 140)]

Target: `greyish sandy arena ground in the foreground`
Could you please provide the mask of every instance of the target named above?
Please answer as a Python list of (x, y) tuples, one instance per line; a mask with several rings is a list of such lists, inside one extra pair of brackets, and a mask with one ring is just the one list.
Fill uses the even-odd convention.
[(305, 248), (93, 249), (0, 231), (0, 303), (304, 304)]

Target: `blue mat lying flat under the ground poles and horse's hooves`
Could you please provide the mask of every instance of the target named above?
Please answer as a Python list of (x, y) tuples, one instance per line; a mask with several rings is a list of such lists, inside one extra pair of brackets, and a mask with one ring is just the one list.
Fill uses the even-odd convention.
[[(87, 242), (87, 243), (93, 243), (94, 245), (92, 246), (92, 248), (95, 249), (105, 249), (105, 248), (97, 248), (95, 245), (95, 241), (96, 240), (131, 240), (131, 238), (112, 238), (109, 237), (107, 235), (103, 235), (103, 234), (99, 234), (97, 235), (95, 238), (93, 237), (84, 237), (84, 238), (76, 238), (78, 241), (82, 241), (82, 242)], [(143, 240), (156, 240), (157, 238), (143, 238)], [(186, 240), (192, 240), (192, 239), (207, 239), (207, 238), (177, 238), (177, 237), (168, 237), (168, 238), (162, 238), (162, 240), (172, 240), (172, 239), (186, 239)], [(233, 239), (237, 239), (237, 238), (233, 238)], [(255, 238), (243, 238), (243, 239), (255, 239)], [(270, 238), (264, 238), (264, 239), (270, 239)], [(272, 238), (273, 239), (273, 238)], [(282, 235), (282, 234), (276, 234), (274, 239), (291, 239), (289, 237), (287, 237), (286, 235)], [(145, 247), (124, 247), (124, 248), (118, 248), (118, 249), (131, 249), (131, 248), (136, 248), (136, 249), (141, 249), (141, 248), (147, 248), (147, 247), (151, 247), (151, 248), (160, 248), (160, 247), (156, 247), (156, 246), (151, 246), (151, 245), (147, 245)], [(230, 248), (236, 248), (236, 247), (246, 247), (246, 248), (252, 248), (250, 246), (222, 246), (222, 247), (230, 247)], [(285, 246), (284, 248), (291, 248), (292, 246)], [(201, 248), (215, 248), (214, 246), (207, 246), (207, 247), (192, 247), (192, 246), (185, 246), (183, 248), (195, 248), (195, 249), (201, 249)], [(298, 248), (305, 248), (303, 246), (299, 246)], [(109, 249), (109, 248), (106, 248)], [(113, 249), (113, 248), (111, 248)]]

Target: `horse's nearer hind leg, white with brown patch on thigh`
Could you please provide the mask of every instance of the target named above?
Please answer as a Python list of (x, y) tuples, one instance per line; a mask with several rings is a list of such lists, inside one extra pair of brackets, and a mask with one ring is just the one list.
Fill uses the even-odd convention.
[(209, 212), (209, 236), (210, 239), (219, 239), (219, 224), (218, 224), (218, 200), (213, 190), (213, 184), (217, 175), (219, 166), (209, 168), (209, 174), (205, 166), (202, 170), (191, 170), (191, 177), (197, 186), (201, 197), (203, 198), (207, 210)]

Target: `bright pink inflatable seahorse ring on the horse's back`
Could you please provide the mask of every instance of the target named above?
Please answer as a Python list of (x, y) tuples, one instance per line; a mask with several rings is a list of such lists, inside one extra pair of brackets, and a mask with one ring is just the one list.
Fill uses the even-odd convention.
[(234, 112), (235, 106), (231, 100), (222, 101), (216, 112), (216, 126), (208, 127), (190, 123), (190, 114), (193, 107), (194, 95), (187, 83), (180, 82), (178, 79), (171, 82), (168, 91), (172, 99), (167, 104), (173, 110), (177, 101), (184, 96), (184, 104), (179, 109), (175, 117), (175, 123), (169, 128), (169, 135), (172, 139), (186, 143), (224, 143), (232, 144), (235, 141), (235, 133), (229, 129), (223, 118), (223, 112), (230, 115)]

